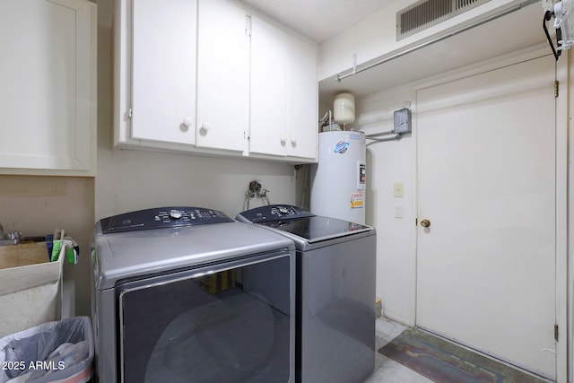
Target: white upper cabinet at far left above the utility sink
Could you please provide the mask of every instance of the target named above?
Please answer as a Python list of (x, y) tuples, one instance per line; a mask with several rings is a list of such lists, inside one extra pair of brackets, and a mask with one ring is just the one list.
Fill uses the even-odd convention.
[(0, 173), (96, 171), (97, 6), (0, 2)]

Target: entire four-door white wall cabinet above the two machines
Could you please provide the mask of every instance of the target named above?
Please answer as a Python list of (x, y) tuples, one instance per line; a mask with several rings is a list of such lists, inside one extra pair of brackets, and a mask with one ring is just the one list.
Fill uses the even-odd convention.
[(121, 0), (115, 20), (115, 144), (317, 160), (315, 45), (234, 0)]

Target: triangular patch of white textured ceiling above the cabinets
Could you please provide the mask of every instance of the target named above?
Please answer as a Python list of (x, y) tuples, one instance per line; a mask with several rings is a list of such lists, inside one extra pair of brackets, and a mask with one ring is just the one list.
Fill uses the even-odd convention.
[(240, 0), (301, 35), (323, 42), (392, 0)]

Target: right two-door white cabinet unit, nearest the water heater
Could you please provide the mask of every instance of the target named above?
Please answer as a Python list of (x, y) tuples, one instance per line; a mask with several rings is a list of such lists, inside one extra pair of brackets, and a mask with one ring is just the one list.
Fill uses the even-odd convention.
[(252, 17), (249, 152), (317, 158), (317, 48)]

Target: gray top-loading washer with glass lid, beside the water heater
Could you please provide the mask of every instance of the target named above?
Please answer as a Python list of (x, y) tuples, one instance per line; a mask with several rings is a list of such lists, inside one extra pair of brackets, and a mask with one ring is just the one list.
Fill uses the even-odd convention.
[(257, 207), (236, 219), (295, 242), (297, 381), (366, 379), (375, 367), (375, 230), (292, 205)]

